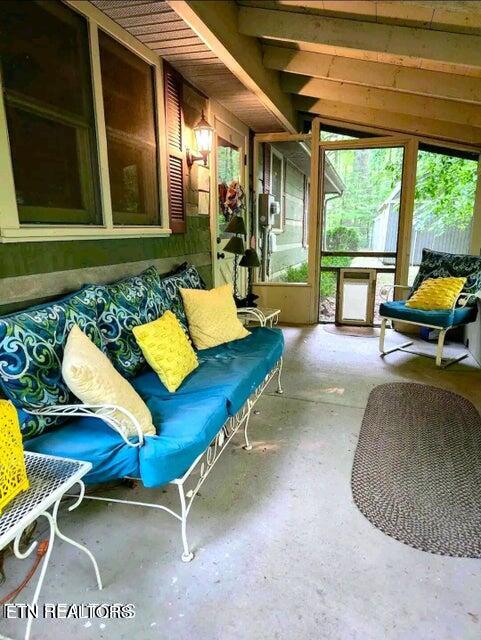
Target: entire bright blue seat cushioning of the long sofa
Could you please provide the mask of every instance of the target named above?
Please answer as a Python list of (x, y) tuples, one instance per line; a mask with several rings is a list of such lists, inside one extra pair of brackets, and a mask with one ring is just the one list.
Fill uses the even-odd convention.
[(157, 435), (129, 447), (102, 421), (73, 419), (25, 442), (29, 451), (75, 457), (92, 463), (86, 482), (125, 476), (158, 487), (182, 476), (282, 356), (279, 329), (254, 328), (250, 336), (199, 354), (201, 364), (176, 393), (151, 370), (132, 380), (149, 407)]

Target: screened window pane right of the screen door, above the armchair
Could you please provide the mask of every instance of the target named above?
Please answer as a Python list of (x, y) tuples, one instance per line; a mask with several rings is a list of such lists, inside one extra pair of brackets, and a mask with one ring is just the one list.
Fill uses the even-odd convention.
[(477, 170), (476, 160), (419, 151), (408, 284), (424, 248), (469, 253)]

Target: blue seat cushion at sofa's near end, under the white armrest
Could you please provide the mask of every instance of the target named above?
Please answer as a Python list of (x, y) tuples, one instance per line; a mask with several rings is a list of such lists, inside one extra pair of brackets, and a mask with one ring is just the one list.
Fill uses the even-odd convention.
[(126, 445), (118, 433), (97, 418), (74, 418), (55, 431), (26, 440), (24, 447), (91, 462), (93, 468), (84, 478), (90, 484), (140, 477), (139, 449)]

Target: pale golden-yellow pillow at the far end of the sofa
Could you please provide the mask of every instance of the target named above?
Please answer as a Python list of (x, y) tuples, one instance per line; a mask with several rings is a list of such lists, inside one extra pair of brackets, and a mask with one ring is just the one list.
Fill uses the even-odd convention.
[(189, 333), (197, 349), (239, 340), (249, 335), (237, 317), (231, 284), (204, 289), (180, 289)]

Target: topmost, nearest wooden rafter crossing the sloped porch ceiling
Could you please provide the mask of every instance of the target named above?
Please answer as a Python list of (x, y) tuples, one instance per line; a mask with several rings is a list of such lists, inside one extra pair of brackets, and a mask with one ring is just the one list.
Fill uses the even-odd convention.
[(302, 48), (312, 50), (338, 47), (378, 61), (402, 64), (410, 59), (419, 67), (427, 62), (433, 69), (448, 65), (449, 70), (457, 67), (460, 73), (463, 68), (481, 71), (481, 36), (475, 35), (245, 6), (239, 9), (239, 31), (251, 37), (302, 43)]

